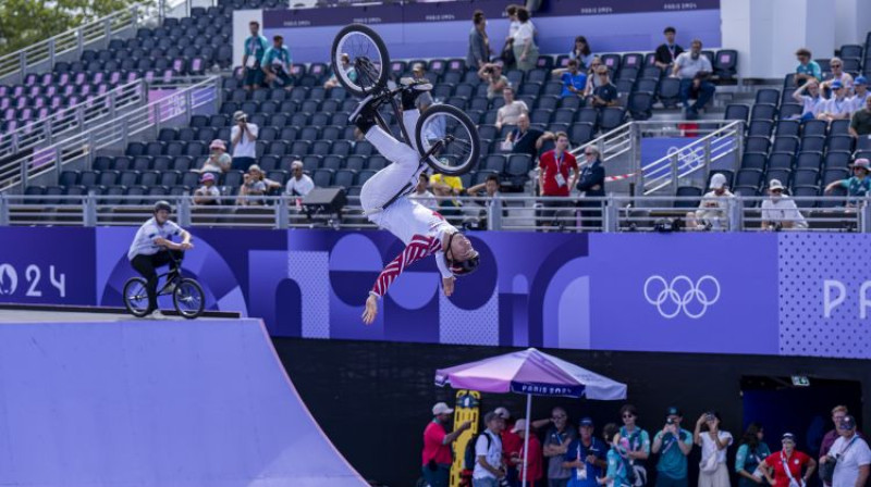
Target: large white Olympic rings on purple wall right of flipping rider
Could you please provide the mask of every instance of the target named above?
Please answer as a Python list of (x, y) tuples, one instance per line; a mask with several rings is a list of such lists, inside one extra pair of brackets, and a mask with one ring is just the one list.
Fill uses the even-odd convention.
[(704, 275), (694, 283), (688, 276), (680, 275), (670, 283), (662, 276), (653, 275), (645, 280), (645, 299), (657, 307), (664, 319), (684, 313), (696, 320), (720, 300), (720, 282), (714, 276)]

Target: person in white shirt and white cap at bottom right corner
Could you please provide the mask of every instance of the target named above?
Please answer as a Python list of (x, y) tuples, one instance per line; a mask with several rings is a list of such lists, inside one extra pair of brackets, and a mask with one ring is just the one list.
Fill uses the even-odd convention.
[(820, 463), (835, 463), (832, 487), (864, 486), (871, 472), (871, 449), (856, 434), (856, 420), (844, 416), (837, 425), (841, 437), (832, 445), (829, 453), (820, 458)]

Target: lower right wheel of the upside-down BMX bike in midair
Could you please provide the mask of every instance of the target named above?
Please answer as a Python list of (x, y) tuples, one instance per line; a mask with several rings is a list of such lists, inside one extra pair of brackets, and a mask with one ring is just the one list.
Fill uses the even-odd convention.
[(478, 127), (466, 112), (450, 104), (432, 105), (420, 115), (415, 140), (426, 163), (447, 176), (471, 171), (481, 153)]

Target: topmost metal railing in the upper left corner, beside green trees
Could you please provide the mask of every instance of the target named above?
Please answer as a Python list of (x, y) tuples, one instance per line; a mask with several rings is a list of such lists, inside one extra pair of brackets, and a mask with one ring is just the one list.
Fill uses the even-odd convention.
[(13, 83), (15, 80), (22, 83), (24, 76), (36, 68), (51, 71), (54, 68), (59, 55), (75, 53), (78, 58), (86, 47), (95, 42), (108, 42), (108, 39), (124, 29), (135, 29), (145, 17), (145, 5), (136, 3), (0, 57), (0, 80), (11, 78)]

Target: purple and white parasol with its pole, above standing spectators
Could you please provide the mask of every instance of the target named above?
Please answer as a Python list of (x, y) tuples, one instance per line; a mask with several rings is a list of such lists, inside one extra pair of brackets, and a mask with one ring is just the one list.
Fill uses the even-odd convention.
[[(455, 389), (526, 395), (524, 472), (529, 448), (532, 396), (585, 397), (604, 401), (626, 399), (625, 384), (535, 348), (436, 371), (436, 385), (443, 387), (447, 384)], [(525, 474), (523, 485), (526, 487)]]

